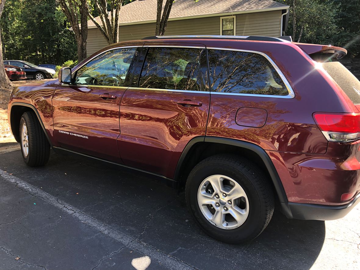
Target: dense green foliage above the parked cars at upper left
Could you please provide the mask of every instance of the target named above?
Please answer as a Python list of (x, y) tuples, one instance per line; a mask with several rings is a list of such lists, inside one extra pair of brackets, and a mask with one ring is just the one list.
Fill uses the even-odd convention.
[(55, 0), (7, 0), (1, 19), (4, 59), (58, 64), (76, 59), (74, 34)]

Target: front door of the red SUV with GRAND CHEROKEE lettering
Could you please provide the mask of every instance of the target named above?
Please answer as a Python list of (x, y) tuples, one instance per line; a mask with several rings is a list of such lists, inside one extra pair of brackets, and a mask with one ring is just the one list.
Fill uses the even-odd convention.
[(121, 163), (119, 105), (137, 50), (126, 46), (106, 51), (75, 71), (74, 84), (55, 90), (54, 130), (63, 148)]

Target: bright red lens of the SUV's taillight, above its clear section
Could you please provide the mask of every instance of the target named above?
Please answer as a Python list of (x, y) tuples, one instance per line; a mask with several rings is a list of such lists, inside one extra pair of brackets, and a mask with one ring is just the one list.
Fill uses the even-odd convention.
[(314, 119), (323, 131), (360, 132), (360, 113), (314, 113)]

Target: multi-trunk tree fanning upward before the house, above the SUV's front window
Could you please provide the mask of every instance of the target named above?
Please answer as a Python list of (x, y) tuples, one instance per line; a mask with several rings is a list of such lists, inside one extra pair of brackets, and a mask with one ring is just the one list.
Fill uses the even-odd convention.
[[(119, 15), (124, 0), (93, 0), (92, 2), (95, 8), (89, 5), (87, 9), (91, 21), (98, 27), (108, 44), (119, 42)], [(96, 14), (99, 14), (101, 25), (95, 20), (94, 9)]]

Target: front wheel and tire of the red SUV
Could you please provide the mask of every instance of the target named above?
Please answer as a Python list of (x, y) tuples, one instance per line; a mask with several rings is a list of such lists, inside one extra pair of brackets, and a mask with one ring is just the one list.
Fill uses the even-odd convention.
[(31, 167), (45, 165), (50, 156), (50, 144), (35, 113), (24, 112), (19, 129), (24, 162)]

